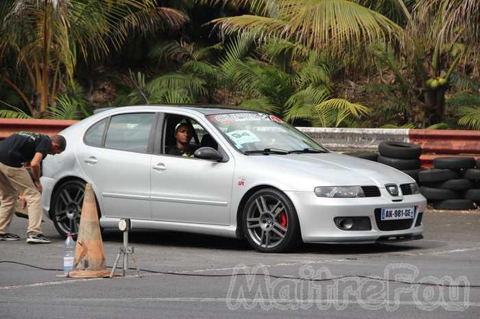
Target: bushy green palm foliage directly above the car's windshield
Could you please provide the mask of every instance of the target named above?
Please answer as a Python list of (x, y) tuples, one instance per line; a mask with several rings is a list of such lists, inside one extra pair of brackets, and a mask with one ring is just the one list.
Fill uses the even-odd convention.
[(326, 57), (287, 40), (267, 38), (259, 44), (253, 38), (247, 33), (230, 42), (218, 66), (219, 81), (237, 95), (241, 92), (241, 107), (328, 127), (368, 112), (363, 105), (330, 99)]

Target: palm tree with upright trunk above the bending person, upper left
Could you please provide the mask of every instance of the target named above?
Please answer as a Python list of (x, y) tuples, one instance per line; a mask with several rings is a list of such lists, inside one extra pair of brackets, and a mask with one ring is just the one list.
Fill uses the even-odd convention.
[[(0, 61), (16, 57), (32, 90), (0, 79), (23, 99), (34, 117), (55, 103), (62, 79), (73, 81), (77, 59), (99, 58), (119, 49), (128, 34), (180, 27), (187, 17), (154, 0), (3, 0), (0, 3)], [(31, 98), (27, 97), (30, 95)]]

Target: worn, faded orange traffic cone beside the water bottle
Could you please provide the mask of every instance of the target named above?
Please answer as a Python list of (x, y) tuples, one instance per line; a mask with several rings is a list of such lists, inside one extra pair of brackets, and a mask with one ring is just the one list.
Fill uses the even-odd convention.
[(98, 278), (109, 277), (105, 261), (104, 243), (101, 241), (97, 205), (90, 183), (85, 186), (80, 229), (77, 246), (75, 246), (75, 261), (69, 277)]

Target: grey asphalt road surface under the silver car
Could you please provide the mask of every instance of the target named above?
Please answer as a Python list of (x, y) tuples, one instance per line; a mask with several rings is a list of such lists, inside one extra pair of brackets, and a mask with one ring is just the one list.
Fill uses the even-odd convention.
[[(125, 278), (64, 279), (59, 270), (3, 262), (61, 269), (64, 242), (45, 222), (52, 244), (0, 242), (0, 318), (479, 318), (480, 212), (429, 211), (424, 225), (415, 242), (309, 244), (289, 254), (136, 231), (141, 278), (130, 270)], [(10, 231), (25, 237), (26, 227), (14, 218)], [(104, 233), (109, 266), (121, 244), (121, 233)]]

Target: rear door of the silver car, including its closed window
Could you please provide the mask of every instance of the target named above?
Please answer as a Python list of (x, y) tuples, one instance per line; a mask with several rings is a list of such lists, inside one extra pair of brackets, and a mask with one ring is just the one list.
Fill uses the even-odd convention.
[(102, 216), (151, 217), (149, 175), (156, 118), (156, 113), (117, 114), (86, 131), (77, 157), (101, 196)]

